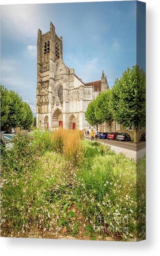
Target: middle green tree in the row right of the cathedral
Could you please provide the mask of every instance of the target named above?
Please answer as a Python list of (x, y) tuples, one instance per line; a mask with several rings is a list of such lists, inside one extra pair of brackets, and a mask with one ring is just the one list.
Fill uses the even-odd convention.
[(110, 108), (111, 90), (101, 92), (95, 100), (95, 116), (100, 118), (100, 123), (107, 122), (109, 124), (109, 132), (111, 132), (111, 122), (113, 115)]

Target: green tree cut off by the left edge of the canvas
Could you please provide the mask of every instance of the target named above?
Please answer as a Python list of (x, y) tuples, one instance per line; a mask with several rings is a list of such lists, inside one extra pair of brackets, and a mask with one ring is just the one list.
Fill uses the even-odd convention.
[(9, 113), (9, 106), (8, 106), (8, 90), (1, 85), (1, 127), (6, 125)]

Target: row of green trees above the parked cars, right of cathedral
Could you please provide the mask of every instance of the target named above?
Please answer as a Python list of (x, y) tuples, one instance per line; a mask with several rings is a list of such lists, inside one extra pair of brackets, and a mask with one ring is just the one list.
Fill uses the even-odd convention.
[(123, 127), (134, 125), (134, 142), (138, 142), (139, 125), (146, 126), (146, 74), (134, 65), (115, 80), (112, 89), (100, 93), (90, 102), (86, 120), (94, 126), (115, 120)]

